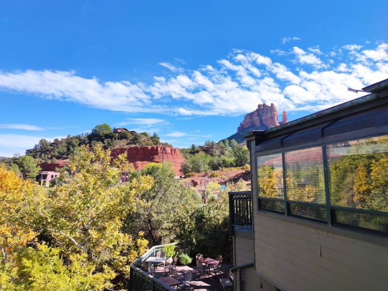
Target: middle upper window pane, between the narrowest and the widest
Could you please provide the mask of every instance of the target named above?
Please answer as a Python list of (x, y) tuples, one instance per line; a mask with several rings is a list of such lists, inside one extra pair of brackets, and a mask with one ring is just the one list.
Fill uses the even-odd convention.
[(322, 147), (286, 152), (287, 200), (326, 204)]

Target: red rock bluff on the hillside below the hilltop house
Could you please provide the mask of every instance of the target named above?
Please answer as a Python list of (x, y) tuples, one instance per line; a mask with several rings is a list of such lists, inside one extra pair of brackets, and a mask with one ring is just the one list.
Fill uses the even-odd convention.
[[(164, 149), (164, 154), (162, 153)], [(179, 172), (180, 164), (184, 158), (178, 148), (162, 146), (131, 146), (113, 148), (111, 156), (116, 158), (120, 154), (126, 154), (128, 162), (131, 162), (136, 170), (141, 170), (149, 162), (171, 162), (176, 176), (182, 176)]]

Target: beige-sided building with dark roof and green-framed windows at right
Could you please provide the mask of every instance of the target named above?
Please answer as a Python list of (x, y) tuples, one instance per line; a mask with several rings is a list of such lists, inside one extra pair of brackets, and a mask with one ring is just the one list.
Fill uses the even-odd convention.
[(387, 290), (388, 79), (362, 91), (243, 136), (252, 186), (229, 193), (234, 290)]

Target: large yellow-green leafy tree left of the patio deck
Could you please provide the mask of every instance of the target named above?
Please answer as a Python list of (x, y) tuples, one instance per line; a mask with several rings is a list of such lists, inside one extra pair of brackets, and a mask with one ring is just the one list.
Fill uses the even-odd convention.
[(111, 279), (121, 282), (115, 289), (125, 288), (129, 265), (146, 251), (147, 242), (142, 234), (124, 233), (122, 222), (142, 203), (135, 194), (154, 181), (140, 176), (122, 183), (120, 174), (130, 171), (130, 165), (123, 156), (111, 162), (110, 151), (100, 143), (82, 146), (68, 169), (41, 203), (41, 224), (65, 256), (85, 254), (96, 272), (112, 274)]

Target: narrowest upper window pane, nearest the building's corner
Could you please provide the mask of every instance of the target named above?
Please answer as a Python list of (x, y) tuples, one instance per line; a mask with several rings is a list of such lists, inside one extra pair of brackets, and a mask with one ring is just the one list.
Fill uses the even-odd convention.
[(258, 157), (259, 197), (284, 199), (282, 155)]

